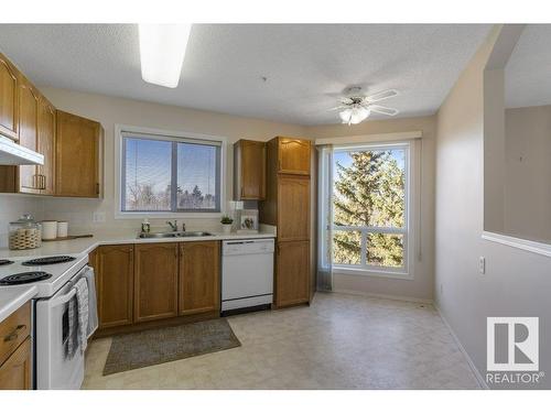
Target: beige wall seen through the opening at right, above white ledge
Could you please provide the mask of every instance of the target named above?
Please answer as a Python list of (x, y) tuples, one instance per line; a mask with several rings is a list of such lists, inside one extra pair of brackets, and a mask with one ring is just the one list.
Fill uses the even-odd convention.
[(551, 106), (505, 115), (505, 233), (551, 242)]

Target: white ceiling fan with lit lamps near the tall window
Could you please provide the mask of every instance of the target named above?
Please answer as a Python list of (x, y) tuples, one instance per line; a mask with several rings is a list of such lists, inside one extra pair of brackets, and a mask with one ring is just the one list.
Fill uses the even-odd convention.
[(338, 116), (343, 123), (356, 124), (360, 123), (371, 112), (381, 113), (387, 116), (396, 116), (398, 115), (398, 109), (387, 108), (385, 106), (375, 105), (378, 101), (393, 98), (398, 96), (399, 93), (396, 89), (382, 90), (374, 95), (361, 96), (361, 88), (358, 86), (350, 87), (346, 89), (346, 94), (348, 96), (341, 98), (339, 106), (329, 110), (341, 110)]

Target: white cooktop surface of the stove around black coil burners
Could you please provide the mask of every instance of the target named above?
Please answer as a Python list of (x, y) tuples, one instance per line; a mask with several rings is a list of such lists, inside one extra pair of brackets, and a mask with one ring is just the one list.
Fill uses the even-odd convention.
[[(52, 256), (58, 257), (58, 256)], [(42, 260), (44, 258), (52, 257), (40, 257)], [(1, 289), (10, 289), (11, 285), (2, 285), (2, 280), (7, 280), (8, 276), (13, 276), (15, 274), (30, 273), (30, 272), (40, 272), (45, 273), (51, 276), (29, 283), (18, 283), (13, 285), (35, 285), (39, 290), (36, 295), (37, 298), (50, 297), (55, 294), (57, 290), (60, 290), (67, 281), (69, 281), (75, 274), (77, 274), (87, 263), (88, 256), (63, 256), (69, 257), (73, 260), (56, 264), (25, 264), (28, 261), (32, 261), (31, 258), (21, 258), (21, 259), (9, 259), (11, 263), (6, 263), (0, 265), (0, 287)]]

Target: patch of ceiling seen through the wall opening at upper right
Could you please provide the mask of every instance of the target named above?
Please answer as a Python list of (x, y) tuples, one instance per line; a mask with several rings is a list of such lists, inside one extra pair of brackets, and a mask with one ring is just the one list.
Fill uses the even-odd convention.
[(505, 68), (508, 108), (551, 105), (551, 24), (529, 24)]

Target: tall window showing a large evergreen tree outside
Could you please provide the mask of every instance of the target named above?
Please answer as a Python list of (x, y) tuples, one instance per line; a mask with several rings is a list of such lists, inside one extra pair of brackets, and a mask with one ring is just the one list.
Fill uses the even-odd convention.
[(336, 148), (333, 267), (407, 272), (409, 145)]

